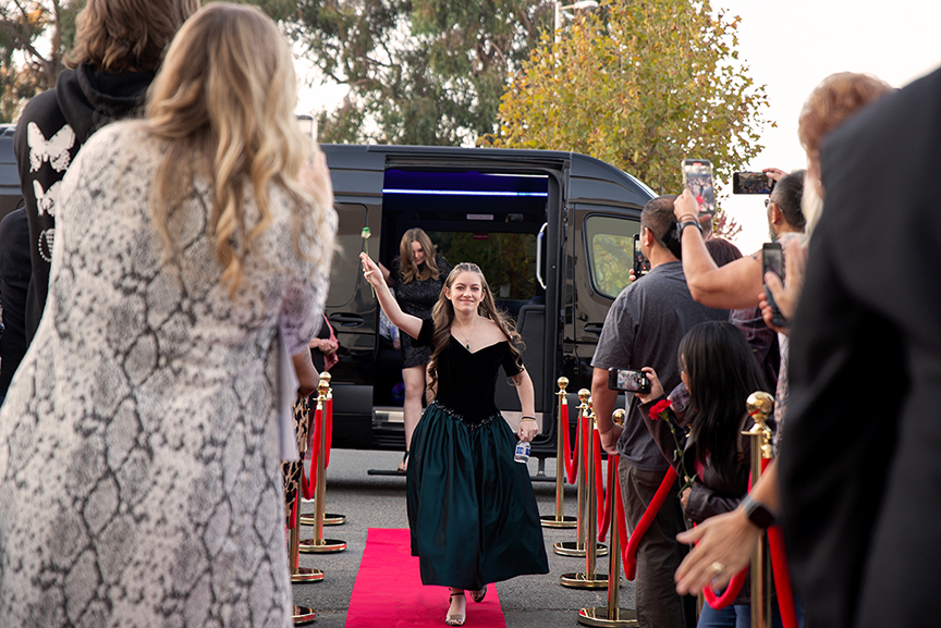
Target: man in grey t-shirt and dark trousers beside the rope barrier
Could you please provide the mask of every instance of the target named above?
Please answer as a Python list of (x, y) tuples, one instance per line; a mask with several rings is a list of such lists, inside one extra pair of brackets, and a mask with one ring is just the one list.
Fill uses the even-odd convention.
[[(728, 310), (708, 308), (689, 295), (680, 261), (674, 198), (661, 196), (644, 207), (640, 249), (650, 260), (650, 272), (621, 291), (608, 311), (591, 360), (595, 416), (606, 451), (621, 456), (618, 475), (631, 530), (640, 520), (670, 465), (644, 424), (640, 404), (632, 394), (627, 394), (624, 428), (612, 422), (618, 391), (608, 389), (608, 369), (652, 367), (663, 389), (671, 391), (680, 383), (676, 350), (686, 332), (700, 322), (729, 318)], [(675, 539), (685, 530), (679, 490), (677, 484), (670, 491), (637, 550), (635, 600), (640, 628), (696, 625), (695, 599), (681, 598), (673, 582), (673, 574), (686, 553), (686, 547)]]

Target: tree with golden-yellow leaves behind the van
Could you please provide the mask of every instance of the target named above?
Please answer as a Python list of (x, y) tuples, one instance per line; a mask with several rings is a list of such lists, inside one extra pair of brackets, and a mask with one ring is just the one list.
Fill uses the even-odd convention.
[(768, 106), (738, 61), (737, 25), (708, 1), (604, 0), (579, 12), (558, 45), (542, 35), (485, 143), (584, 152), (664, 193), (682, 188), (687, 157), (711, 160), (717, 181), (728, 181), (762, 149)]

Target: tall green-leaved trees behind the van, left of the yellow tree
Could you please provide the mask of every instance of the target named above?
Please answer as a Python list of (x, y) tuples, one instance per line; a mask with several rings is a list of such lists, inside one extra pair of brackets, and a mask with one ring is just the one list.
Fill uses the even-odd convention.
[(506, 76), (548, 0), (259, 0), (325, 76), (349, 86), (331, 141), (460, 145), (497, 130)]

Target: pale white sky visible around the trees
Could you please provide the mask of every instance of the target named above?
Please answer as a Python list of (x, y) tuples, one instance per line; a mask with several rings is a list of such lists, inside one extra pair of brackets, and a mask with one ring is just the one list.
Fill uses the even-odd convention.
[[(810, 90), (833, 72), (870, 72), (901, 87), (941, 66), (941, 0), (716, 0), (742, 17), (740, 59), (751, 78), (766, 85), (770, 107), (765, 118), (778, 123), (761, 133), (765, 150), (748, 170), (804, 168), (797, 143), (797, 114)], [(309, 75), (302, 63), (298, 74)], [(343, 88), (304, 87), (301, 112), (334, 106)], [(702, 157), (702, 156), (691, 156)], [(724, 186), (731, 193), (731, 185)], [(720, 198), (744, 227), (736, 244), (744, 254), (768, 239), (760, 196)]]

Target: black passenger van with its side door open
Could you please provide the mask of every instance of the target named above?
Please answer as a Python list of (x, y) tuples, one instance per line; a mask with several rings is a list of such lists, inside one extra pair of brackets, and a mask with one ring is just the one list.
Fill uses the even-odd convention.
[[(358, 255), (387, 267), (402, 235), (421, 227), (452, 266), (478, 264), (498, 306), (516, 321), (536, 389), (540, 434), (533, 455), (555, 455), (557, 380), (590, 387), (604, 316), (627, 285), (633, 236), (655, 193), (584, 155), (421, 146), (323, 145), (340, 214), (327, 317), (340, 361), (330, 370), (333, 446), (404, 450), (401, 358), (378, 333), (379, 308)], [(362, 238), (364, 226), (372, 237)], [(515, 390), (498, 382), (508, 419)]]

